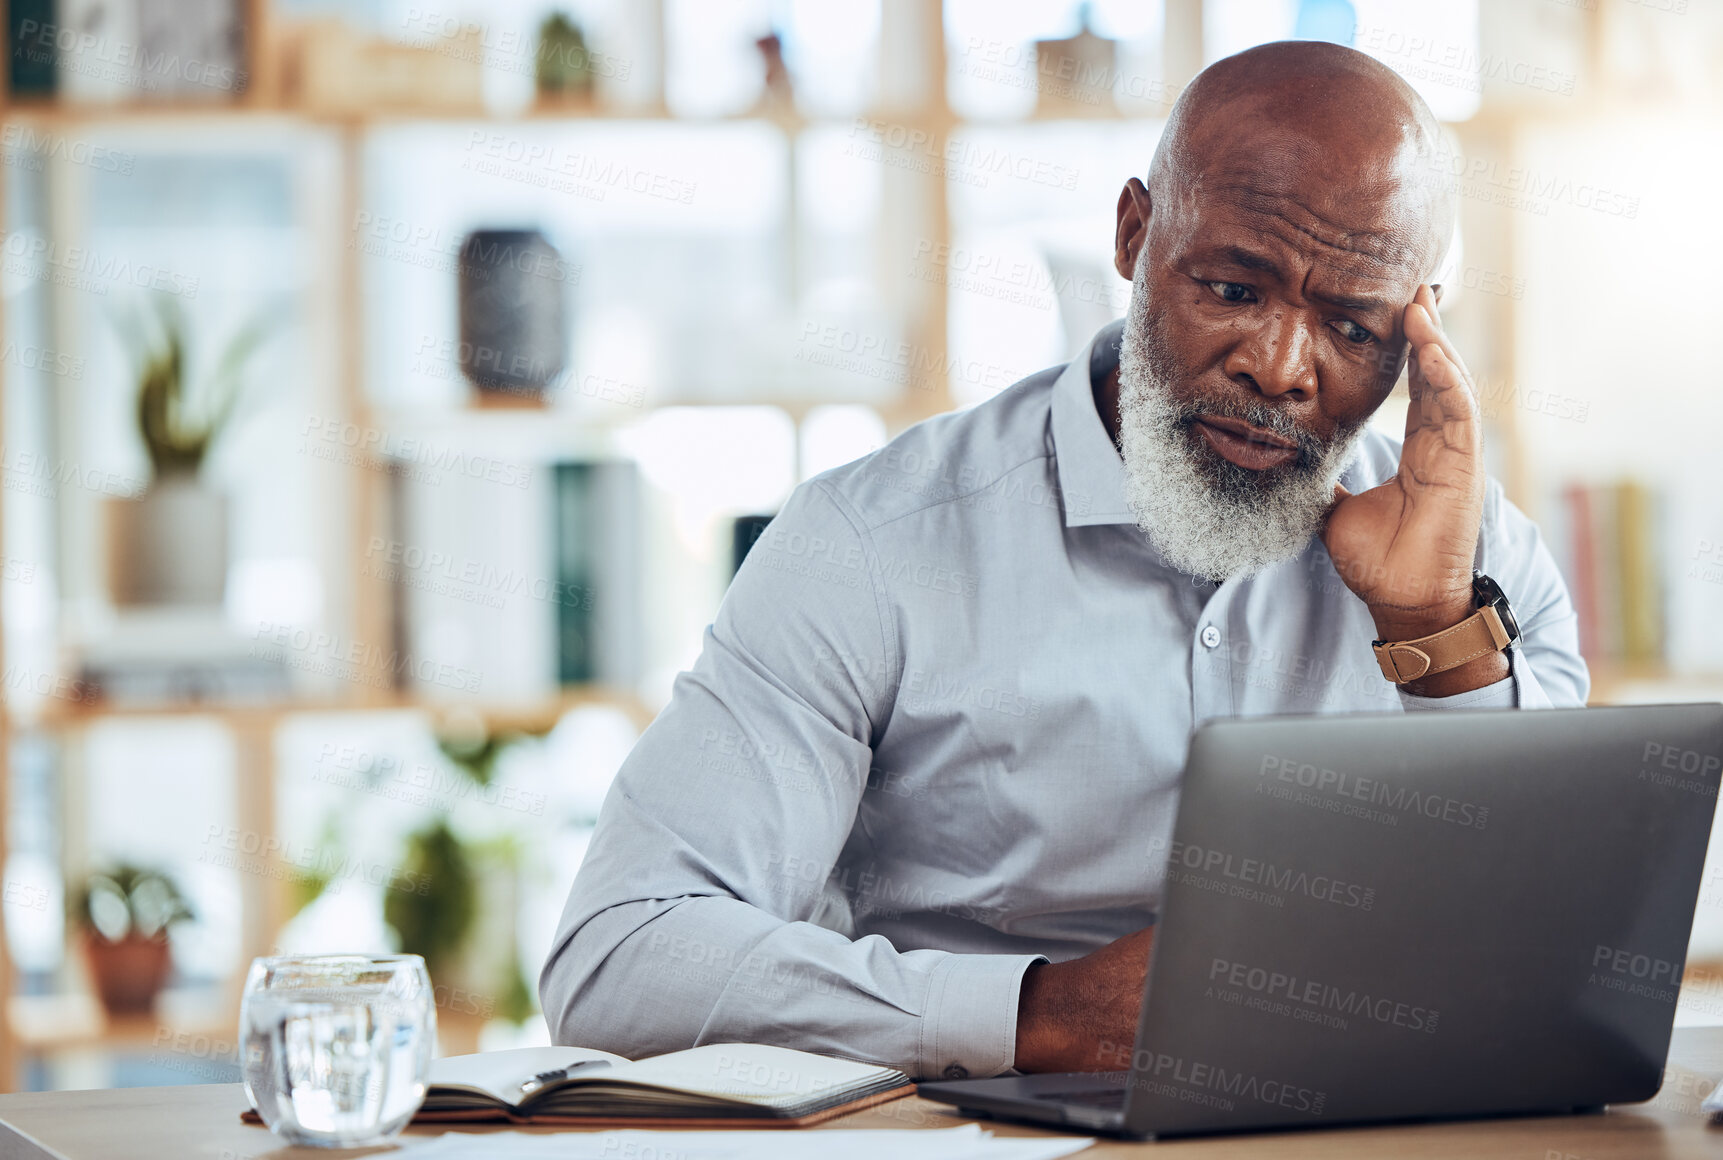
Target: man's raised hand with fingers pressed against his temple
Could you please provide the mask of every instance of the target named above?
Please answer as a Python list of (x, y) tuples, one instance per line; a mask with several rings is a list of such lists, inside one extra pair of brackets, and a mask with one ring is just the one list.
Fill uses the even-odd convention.
[[(1323, 543), (1334, 567), (1366, 605), (1382, 639), (1449, 629), (1471, 615), (1471, 565), (1484, 519), (1484, 424), (1459, 352), (1442, 333), (1430, 286), (1404, 314), (1408, 359), (1406, 441), (1387, 483), (1349, 493), (1335, 484)], [(1408, 686), (1451, 696), (1508, 676), (1489, 653)]]

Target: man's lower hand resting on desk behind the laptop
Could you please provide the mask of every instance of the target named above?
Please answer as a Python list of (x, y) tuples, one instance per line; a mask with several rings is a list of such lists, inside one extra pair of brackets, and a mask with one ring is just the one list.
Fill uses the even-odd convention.
[(1154, 927), (1063, 964), (1036, 964), (1017, 1003), (1017, 1070), (1108, 1072), (1130, 1058)]

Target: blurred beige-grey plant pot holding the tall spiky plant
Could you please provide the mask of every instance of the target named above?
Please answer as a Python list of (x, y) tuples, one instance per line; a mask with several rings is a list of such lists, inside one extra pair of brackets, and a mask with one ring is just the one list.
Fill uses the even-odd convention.
[(219, 607), (227, 588), (227, 496), (165, 476), (109, 512), (109, 583), (122, 607)]

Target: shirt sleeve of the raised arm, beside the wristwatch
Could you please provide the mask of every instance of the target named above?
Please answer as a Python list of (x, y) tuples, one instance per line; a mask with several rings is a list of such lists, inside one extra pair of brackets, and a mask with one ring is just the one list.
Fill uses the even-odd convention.
[(1501, 584), (1520, 622), (1520, 639), (1508, 653), (1511, 674), (1454, 696), (1413, 696), (1401, 689), (1401, 703), (1408, 710), (1583, 705), (1590, 672), (1580, 657), (1580, 619), (1568, 584), (1537, 524), (1508, 502), (1496, 481), (1485, 493), (1478, 569)]

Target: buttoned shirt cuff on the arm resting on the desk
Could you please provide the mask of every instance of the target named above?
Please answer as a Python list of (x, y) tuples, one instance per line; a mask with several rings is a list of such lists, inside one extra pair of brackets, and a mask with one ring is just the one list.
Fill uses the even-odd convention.
[(1017, 1062), (1023, 972), (1044, 955), (948, 955), (927, 981), (920, 1079), (984, 1079)]

